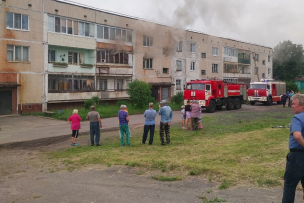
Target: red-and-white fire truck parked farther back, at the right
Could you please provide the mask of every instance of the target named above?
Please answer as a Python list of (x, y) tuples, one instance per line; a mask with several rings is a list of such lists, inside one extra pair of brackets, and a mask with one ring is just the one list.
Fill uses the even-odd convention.
[(271, 105), (272, 102), (281, 103), (281, 95), (286, 92), (285, 82), (261, 79), (259, 82), (250, 82), (248, 101), (251, 105), (261, 102)]

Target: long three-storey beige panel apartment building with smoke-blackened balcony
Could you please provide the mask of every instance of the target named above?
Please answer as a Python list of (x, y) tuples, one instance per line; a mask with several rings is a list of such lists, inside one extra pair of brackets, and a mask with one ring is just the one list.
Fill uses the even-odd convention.
[(59, 109), (127, 83), (170, 100), (194, 79), (272, 77), (272, 48), (56, 0), (1, 0), (0, 115)]

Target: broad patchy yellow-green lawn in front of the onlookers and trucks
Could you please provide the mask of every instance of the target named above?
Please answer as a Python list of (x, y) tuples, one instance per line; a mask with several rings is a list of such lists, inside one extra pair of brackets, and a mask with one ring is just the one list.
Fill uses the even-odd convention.
[[(290, 122), (290, 108), (280, 112), (204, 114), (204, 128), (192, 132), (171, 126), (171, 143), (162, 146), (155, 128), (151, 146), (140, 144), (142, 129), (132, 130), (131, 146), (121, 147), (118, 136), (102, 140), (101, 147), (80, 145), (48, 153), (52, 161), (71, 171), (89, 164), (128, 165), (138, 175), (173, 181), (196, 175), (219, 182), (219, 189), (244, 182), (263, 187), (282, 185), (289, 129), (271, 128)], [(106, 133), (106, 132), (104, 132)], [(87, 135), (88, 136), (88, 135)]]

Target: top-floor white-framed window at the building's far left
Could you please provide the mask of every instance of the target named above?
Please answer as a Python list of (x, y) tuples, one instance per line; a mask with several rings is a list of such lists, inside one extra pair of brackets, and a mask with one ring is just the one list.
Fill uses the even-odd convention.
[(28, 30), (28, 15), (6, 12), (6, 28)]

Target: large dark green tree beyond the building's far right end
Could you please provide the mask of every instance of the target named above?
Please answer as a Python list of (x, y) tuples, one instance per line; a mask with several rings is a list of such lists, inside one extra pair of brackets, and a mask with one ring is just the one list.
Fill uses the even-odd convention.
[(304, 50), (302, 44), (290, 40), (279, 42), (273, 48), (273, 78), (293, 81), (304, 74)]

